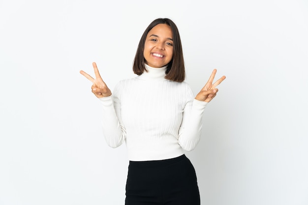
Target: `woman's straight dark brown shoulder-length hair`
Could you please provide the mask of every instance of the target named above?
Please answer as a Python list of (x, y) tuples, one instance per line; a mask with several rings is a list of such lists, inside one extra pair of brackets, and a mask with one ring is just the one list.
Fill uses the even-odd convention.
[(142, 34), (133, 63), (133, 71), (137, 75), (141, 75), (144, 71), (147, 72), (145, 68), (147, 62), (143, 55), (144, 45), (149, 31), (157, 24), (166, 24), (170, 26), (173, 33), (173, 57), (167, 65), (165, 79), (183, 82), (185, 80), (185, 66), (180, 33), (175, 23), (167, 18), (155, 19)]

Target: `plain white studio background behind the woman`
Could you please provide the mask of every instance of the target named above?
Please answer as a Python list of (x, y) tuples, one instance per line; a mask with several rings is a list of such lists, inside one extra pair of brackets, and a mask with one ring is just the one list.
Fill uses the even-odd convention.
[(207, 106), (195, 166), (202, 205), (308, 205), (307, 0), (0, 0), (0, 205), (123, 205), (125, 145), (106, 145), (100, 102), (133, 77), (156, 18), (178, 26)]

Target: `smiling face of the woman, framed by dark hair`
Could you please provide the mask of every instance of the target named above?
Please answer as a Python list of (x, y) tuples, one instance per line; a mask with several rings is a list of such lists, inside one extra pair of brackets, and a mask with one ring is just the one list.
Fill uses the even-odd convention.
[(149, 66), (160, 68), (167, 65), (173, 56), (173, 38), (170, 26), (157, 24), (147, 35), (143, 56)]

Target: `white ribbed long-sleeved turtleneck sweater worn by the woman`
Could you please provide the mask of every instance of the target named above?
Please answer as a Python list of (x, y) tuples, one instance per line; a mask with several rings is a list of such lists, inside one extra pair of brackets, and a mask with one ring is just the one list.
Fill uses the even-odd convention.
[(130, 161), (178, 157), (198, 144), (207, 103), (194, 99), (187, 83), (166, 80), (166, 66), (146, 69), (99, 98), (103, 135), (111, 147), (125, 141)]

